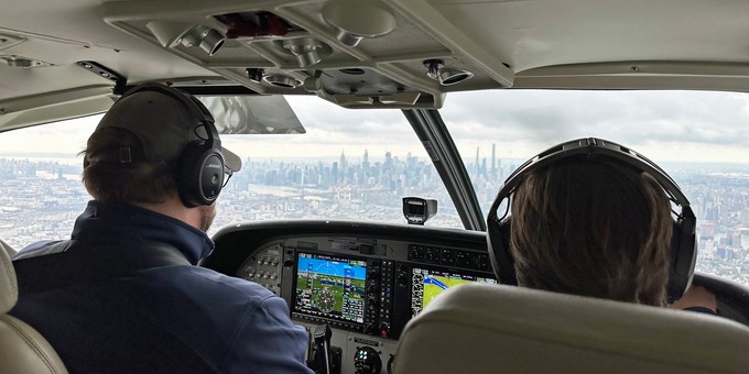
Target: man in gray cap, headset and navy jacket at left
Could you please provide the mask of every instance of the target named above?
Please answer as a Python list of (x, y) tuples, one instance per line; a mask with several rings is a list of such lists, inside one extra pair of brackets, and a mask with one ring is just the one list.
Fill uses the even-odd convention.
[(70, 240), (14, 258), (11, 311), (40, 331), (70, 372), (311, 373), (306, 331), (264, 287), (196, 266), (240, 158), (221, 146), (194, 97), (132, 88), (87, 142), (94, 197)]

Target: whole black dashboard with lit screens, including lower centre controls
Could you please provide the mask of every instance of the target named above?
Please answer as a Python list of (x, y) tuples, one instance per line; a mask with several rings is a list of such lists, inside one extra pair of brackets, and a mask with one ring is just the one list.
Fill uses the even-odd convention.
[(232, 227), (214, 240), (203, 266), (261, 284), (311, 332), (327, 323), (341, 373), (387, 373), (401, 331), (434, 297), (497, 283), (477, 232), (283, 221)]

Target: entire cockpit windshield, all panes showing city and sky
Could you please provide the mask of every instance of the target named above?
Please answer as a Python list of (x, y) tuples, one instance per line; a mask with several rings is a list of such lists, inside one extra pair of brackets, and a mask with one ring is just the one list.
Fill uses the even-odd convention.
[[(426, 226), (463, 229), (400, 110), (350, 110), (286, 97), (306, 133), (222, 135), (243, 167), (209, 233), (240, 222), (343, 219), (406, 224), (402, 198), (438, 201)], [(644, 154), (697, 215), (697, 268), (749, 284), (749, 96), (708, 91), (495, 90), (449, 94), (439, 113), (486, 217), (527, 158), (582, 136)], [(0, 238), (20, 249), (66, 239), (89, 199), (77, 156), (99, 116), (0, 134)]]

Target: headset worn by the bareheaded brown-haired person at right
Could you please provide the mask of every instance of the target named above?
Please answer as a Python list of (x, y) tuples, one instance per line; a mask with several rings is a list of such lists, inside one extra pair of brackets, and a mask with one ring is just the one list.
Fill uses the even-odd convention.
[[(514, 258), (510, 251), (511, 217), (510, 198), (528, 173), (571, 158), (606, 160), (629, 165), (640, 172), (650, 174), (664, 189), (669, 200), (681, 207), (673, 222), (671, 241), (671, 263), (666, 293), (669, 302), (682, 297), (692, 283), (694, 265), (697, 257), (695, 241), (696, 218), (690, 201), (676, 183), (663, 169), (644, 156), (614, 142), (587, 138), (562, 143), (551, 147), (527, 161), (504, 180), (495, 199), (487, 218), (487, 244), (495, 274), (501, 284), (517, 285)], [(497, 210), (502, 201), (508, 200), (504, 215), (499, 217)]]

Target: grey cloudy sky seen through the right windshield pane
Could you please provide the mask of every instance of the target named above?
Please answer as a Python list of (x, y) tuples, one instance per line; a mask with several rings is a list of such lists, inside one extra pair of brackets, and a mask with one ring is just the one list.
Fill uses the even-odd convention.
[(529, 157), (565, 140), (596, 136), (654, 150), (664, 160), (672, 157), (654, 144), (690, 144), (704, 150), (691, 158), (725, 161), (721, 153), (736, 160), (737, 151), (749, 150), (748, 102), (732, 92), (497, 90), (451, 95), (443, 117), (456, 142), (489, 150), (491, 140), (503, 156), (521, 150), (515, 155)]

